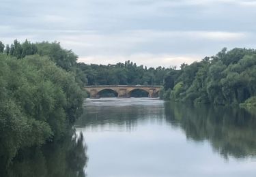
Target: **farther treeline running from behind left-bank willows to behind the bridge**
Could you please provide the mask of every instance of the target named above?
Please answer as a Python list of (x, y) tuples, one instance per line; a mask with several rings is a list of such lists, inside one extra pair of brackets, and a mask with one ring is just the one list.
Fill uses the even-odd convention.
[(14, 40), (14, 44), (4, 46), (0, 42), (0, 52), (5, 52), (17, 59), (27, 55), (47, 55), (53, 62), (66, 71), (76, 74), (76, 82), (83, 85), (115, 85), (115, 84), (144, 84), (162, 85), (163, 78), (167, 75), (169, 68), (150, 67), (139, 65), (132, 61), (116, 63), (115, 65), (96, 65), (76, 63), (77, 56), (72, 50), (63, 50), (59, 43), (41, 42), (33, 44), (27, 39), (23, 44)]

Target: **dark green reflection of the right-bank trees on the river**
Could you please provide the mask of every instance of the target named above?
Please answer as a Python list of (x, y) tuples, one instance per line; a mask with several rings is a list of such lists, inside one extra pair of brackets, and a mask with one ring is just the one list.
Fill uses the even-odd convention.
[(223, 157), (256, 155), (256, 118), (239, 108), (167, 103), (167, 121), (180, 126), (187, 138), (208, 140)]

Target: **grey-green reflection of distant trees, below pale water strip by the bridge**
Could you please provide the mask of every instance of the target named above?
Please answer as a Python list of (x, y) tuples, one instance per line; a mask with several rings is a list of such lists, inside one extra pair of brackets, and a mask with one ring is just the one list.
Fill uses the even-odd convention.
[(131, 130), (136, 125), (138, 120), (147, 120), (148, 118), (159, 118), (163, 113), (160, 109), (162, 104), (156, 106), (102, 106), (85, 108), (85, 114), (76, 121), (77, 126), (86, 127), (104, 127), (104, 125), (119, 125), (126, 126), (126, 129)]

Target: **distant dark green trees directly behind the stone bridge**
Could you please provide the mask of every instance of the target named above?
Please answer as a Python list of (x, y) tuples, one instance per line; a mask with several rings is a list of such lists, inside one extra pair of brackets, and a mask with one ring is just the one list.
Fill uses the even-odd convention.
[(165, 67), (144, 67), (126, 61), (115, 65), (87, 65), (79, 63), (79, 68), (86, 75), (87, 85), (162, 85), (163, 78), (169, 71)]

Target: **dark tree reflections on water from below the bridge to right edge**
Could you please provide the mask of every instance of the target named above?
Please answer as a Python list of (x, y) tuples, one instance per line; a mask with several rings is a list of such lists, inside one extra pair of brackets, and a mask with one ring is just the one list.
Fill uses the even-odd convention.
[(256, 155), (256, 116), (240, 108), (194, 106), (158, 99), (89, 100), (76, 127), (94, 131), (115, 128), (132, 131), (149, 119), (153, 124), (180, 127), (188, 140), (207, 140), (225, 159)]

